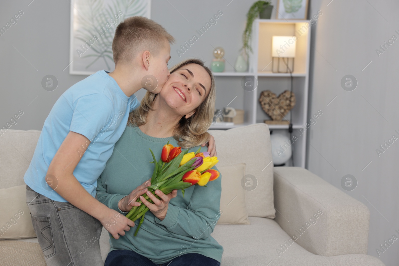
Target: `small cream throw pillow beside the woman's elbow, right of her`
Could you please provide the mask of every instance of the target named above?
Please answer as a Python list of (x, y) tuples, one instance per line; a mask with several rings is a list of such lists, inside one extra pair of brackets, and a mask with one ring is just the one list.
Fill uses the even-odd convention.
[(220, 197), (221, 215), (218, 224), (251, 224), (245, 208), (245, 190), (241, 187), (241, 179), (245, 175), (245, 163), (234, 166), (217, 167), (222, 178)]

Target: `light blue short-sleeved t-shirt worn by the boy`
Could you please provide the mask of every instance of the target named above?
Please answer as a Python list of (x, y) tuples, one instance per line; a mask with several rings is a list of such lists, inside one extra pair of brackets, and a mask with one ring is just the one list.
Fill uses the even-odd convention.
[(95, 197), (97, 179), (126, 128), (129, 112), (139, 105), (135, 95), (127, 97), (108, 73), (100, 70), (79, 81), (51, 108), (24, 175), (25, 183), (34, 191), (54, 201), (67, 202), (46, 183), (45, 176), (61, 143), (69, 131), (73, 131), (90, 141), (86, 152), (76, 151), (82, 158), (73, 175)]

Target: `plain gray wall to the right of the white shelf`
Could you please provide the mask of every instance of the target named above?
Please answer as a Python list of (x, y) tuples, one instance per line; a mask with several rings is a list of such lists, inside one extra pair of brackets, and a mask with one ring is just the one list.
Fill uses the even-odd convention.
[[(312, 28), (308, 114), (320, 109), (323, 115), (310, 128), (307, 168), (341, 189), (344, 175), (356, 177), (358, 186), (346, 193), (369, 208), (368, 253), (378, 257), (375, 249), (393, 234), (399, 236), (399, 141), (380, 157), (376, 152), (392, 135), (399, 137), (399, 41), (379, 57), (375, 50), (392, 35), (399, 37), (399, 2), (330, 1), (314, 0), (310, 9), (323, 15)], [(342, 89), (345, 75), (356, 77), (354, 91)], [(379, 258), (398, 265), (398, 251), (396, 240)]]

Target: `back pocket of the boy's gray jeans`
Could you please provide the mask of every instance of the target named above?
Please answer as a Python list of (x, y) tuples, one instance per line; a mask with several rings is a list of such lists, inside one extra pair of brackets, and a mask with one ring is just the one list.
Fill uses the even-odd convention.
[(41, 247), (41, 251), (46, 258), (49, 258), (55, 254), (53, 232), (51, 231), (50, 217), (38, 217), (32, 216), (32, 223), (38, 236), (38, 242)]

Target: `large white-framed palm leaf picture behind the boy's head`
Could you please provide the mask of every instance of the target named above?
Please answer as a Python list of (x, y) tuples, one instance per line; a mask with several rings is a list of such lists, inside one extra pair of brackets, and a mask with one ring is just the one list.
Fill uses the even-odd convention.
[(113, 71), (112, 41), (120, 22), (150, 18), (151, 0), (71, 0), (69, 74)]

